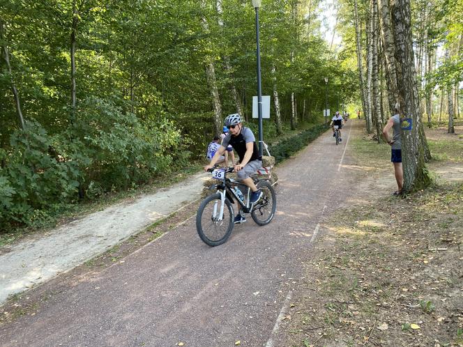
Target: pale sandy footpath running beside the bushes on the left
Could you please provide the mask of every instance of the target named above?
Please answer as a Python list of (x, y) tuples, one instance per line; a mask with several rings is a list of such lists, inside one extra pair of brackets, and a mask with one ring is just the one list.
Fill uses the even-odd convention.
[(0, 247), (0, 304), (66, 272), (199, 198), (206, 173), (77, 219), (46, 235)]

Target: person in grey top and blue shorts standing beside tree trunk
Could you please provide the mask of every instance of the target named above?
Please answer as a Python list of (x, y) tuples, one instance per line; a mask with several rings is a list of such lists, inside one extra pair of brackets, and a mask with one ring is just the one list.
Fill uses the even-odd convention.
[[(390, 161), (394, 164), (395, 180), (397, 182), (397, 190), (393, 195), (402, 194), (404, 186), (404, 173), (402, 170), (402, 136), (400, 134), (400, 105), (395, 104), (395, 114), (390, 117), (388, 123), (383, 129), (383, 137), (390, 145)], [(392, 128), (393, 137), (390, 139), (389, 130)]]

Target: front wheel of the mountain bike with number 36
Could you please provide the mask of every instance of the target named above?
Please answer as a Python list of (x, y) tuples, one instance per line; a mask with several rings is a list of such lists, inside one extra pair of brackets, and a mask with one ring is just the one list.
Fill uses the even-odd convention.
[(204, 199), (199, 205), (196, 215), (196, 230), (199, 237), (209, 246), (222, 245), (233, 230), (234, 213), (232, 203), (225, 199), (222, 219), (219, 220), (220, 194), (213, 194)]

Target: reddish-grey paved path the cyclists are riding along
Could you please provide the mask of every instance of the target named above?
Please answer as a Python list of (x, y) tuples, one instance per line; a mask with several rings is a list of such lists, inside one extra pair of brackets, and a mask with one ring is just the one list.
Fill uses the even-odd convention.
[[(0, 327), (1, 346), (284, 346), (279, 323), (324, 217), (349, 195), (347, 122), (277, 169), (277, 214), (249, 217), (219, 247), (197, 236), (195, 219), (122, 261), (54, 293), (33, 316)], [(347, 148), (346, 148), (347, 146)], [(347, 151), (346, 151), (347, 149)], [(350, 172), (350, 171), (349, 171)]]

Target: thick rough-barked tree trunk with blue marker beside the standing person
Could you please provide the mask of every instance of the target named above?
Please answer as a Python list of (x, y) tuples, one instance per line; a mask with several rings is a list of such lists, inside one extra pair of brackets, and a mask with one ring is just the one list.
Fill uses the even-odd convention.
[(393, 1), (392, 22), (395, 30), (395, 62), (397, 68), (397, 89), (400, 114), (411, 118), (411, 130), (402, 128), (402, 163), (404, 169), (404, 192), (430, 185), (425, 169), (425, 148), (420, 131), (421, 114), (416, 82), (411, 36), (411, 11), (409, 0)]

